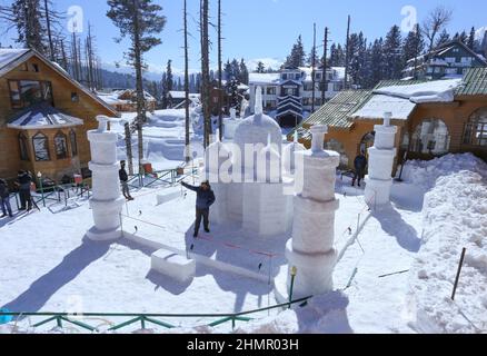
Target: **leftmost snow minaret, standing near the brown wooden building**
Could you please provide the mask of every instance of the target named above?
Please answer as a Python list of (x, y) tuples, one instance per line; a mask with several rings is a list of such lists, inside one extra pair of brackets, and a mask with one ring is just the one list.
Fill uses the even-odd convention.
[(98, 116), (98, 130), (88, 131), (91, 147), (93, 195), (90, 207), (93, 211), (95, 226), (87, 233), (91, 240), (111, 240), (122, 236), (120, 212), (125, 199), (120, 194), (117, 161), (117, 140), (115, 132), (107, 130), (108, 118)]

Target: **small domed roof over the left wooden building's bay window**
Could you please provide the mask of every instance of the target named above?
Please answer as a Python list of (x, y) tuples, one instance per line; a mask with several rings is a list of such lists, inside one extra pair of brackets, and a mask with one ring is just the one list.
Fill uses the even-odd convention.
[(83, 125), (83, 120), (67, 115), (48, 103), (31, 106), (9, 120), (7, 127), (11, 129), (54, 129)]

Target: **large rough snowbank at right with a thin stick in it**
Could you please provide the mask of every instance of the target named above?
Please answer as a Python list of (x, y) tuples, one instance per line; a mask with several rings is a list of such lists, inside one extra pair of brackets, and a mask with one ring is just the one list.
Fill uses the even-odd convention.
[[(487, 165), (467, 155), (425, 171), (453, 170), (426, 195), (424, 246), (410, 271), (416, 328), (424, 333), (487, 332)], [(468, 170), (455, 172), (465, 160)], [(473, 166), (476, 162), (476, 166)], [(440, 168), (443, 167), (443, 168)], [(418, 171), (418, 170), (417, 170)], [(466, 260), (455, 301), (450, 299), (463, 248)]]

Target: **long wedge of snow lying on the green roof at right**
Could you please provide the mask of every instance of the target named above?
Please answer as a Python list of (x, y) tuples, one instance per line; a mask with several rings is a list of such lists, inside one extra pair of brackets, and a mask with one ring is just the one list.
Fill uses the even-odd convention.
[(435, 80), (419, 85), (385, 87), (374, 91), (389, 97), (409, 99), (415, 103), (453, 102), (461, 79)]

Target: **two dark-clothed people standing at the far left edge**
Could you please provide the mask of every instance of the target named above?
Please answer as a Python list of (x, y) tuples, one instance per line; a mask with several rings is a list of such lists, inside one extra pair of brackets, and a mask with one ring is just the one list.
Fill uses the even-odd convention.
[[(30, 211), (32, 209), (32, 176), (26, 170), (19, 170), (16, 186), (19, 191), (20, 208), (19, 210)], [(0, 179), (0, 207), (2, 215), (0, 217), (13, 217), (12, 206), (10, 204), (10, 189), (6, 179)]]

